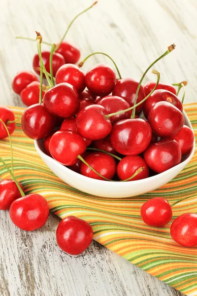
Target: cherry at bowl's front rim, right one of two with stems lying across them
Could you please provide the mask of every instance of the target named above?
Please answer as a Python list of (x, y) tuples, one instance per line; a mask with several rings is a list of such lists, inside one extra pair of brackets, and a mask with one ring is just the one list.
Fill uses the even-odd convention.
[[(143, 167), (144, 170), (129, 181), (145, 179), (149, 177), (148, 166), (139, 155), (125, 156), (117, 165), (117, 174), (120, 180), (129, 179), (137, 169)], [(128, 182), (129, 182), (128, 181)]]

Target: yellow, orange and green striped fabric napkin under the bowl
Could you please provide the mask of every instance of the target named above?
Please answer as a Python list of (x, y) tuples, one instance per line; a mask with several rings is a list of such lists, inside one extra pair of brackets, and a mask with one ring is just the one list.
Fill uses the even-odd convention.
[[(15, 117), (23, 108), (11, 107)], [(197, 141), (197, 104), (184, 105)], [(173, 219), (186, 212), (197, 212), (197, 149), (187, 167), (171, 182), (153, 192), (131, 198), (104, 198), (89, 195), (66, 185), (43, 163), (33, 140), (19, 123), (12, 134), (15, 177), (26, 194), (43, 195), (50, 210), (60, 218), (74, 215), (89, 222), (94, 239), (131, 263), (182, 293), (197, 296), (197, 248), (185, 248), (170, 237), (170, 224), (161, 228), (146, 225), (140, 207), (149, 198), (163, 196), (170, 203), (190, 196), (173, 207)], [(0, 156), (10, 164), (8, 138), (0, 140)], [(10, 178), (0, 163), (0, 177)]]

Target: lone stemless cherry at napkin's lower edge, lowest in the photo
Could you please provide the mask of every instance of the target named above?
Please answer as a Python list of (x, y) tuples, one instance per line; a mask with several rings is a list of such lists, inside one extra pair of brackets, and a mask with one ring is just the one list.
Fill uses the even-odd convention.
[(88, 222), (74, 216), (67, 216), (58, 225), (56, 240), (64, 252), (78, 255), (90, 246), (93, 235), (92, 227)]

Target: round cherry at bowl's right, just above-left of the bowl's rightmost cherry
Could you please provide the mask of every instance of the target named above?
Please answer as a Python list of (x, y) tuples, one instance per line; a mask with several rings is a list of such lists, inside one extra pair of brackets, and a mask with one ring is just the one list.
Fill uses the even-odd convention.
[(161, 138), (178, 133), (184, 125), (181, 111), (168, 102), (158, 102), (149, 111), (148, 122), (153, 132)]

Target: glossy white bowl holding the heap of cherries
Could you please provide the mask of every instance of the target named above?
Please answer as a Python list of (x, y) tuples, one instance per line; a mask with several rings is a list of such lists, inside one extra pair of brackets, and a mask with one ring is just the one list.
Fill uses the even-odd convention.
[[(183, 111), (183, 115), (185, 118), (185, 125), (192, 129), (192, 125), (185, 111)], [(44, 153), (43, 140), (34, 141), (34, 145), (45, 164), (65, 183), (89, 194), (112, 198), (136, 196), (161, 187), (184, 169), (195, 151), (194, 141), (193, 148), (186, 155), (186, 159), (173, 168), (156, 176), (130, 182), (110, 182), (91, 179), (66, 168), (64, 165)]]

